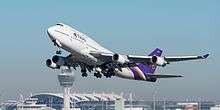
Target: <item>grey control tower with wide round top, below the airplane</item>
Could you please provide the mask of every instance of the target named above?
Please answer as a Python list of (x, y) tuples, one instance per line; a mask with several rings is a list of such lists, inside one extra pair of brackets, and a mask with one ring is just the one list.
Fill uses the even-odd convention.
[(63, 110), (70, 110), (70, 88), (73, 86), (75, 76), (70, 69), (62, 69), (58, 75), (60, 86), (63, 87)]

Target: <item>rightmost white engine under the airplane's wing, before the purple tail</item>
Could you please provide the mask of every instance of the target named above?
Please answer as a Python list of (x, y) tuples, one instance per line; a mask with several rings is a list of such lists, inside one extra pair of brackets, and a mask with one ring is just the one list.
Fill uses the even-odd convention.
[(166, 66), (167, 61), (164, 57), (152, 56), (151, 62), (158, 65), (158, 66)]

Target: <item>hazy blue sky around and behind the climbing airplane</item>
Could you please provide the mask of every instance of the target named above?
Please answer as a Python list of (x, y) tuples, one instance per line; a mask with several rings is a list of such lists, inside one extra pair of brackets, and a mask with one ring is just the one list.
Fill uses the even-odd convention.
[(156, 83), (117, 77), (82, 78), (75, 71), (74, 92), (133, 93), (137, 99), (220, 101), (219, 0), (1, 0), (0, 100), (20, 94), (61, 92), (57, 70), (45, 61), (56, 48), (46, 30), (66, 23), (121, 54), (147, 55), (161, 48), (164, 55), (202, 55), (207, 60), (172, 63), (161, 74), (180, 79)]

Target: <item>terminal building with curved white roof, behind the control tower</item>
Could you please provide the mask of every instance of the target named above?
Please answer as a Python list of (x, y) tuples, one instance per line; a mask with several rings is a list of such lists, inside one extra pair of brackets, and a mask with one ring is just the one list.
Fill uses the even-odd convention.
[[(63, 108), (63, 95), (54, 93), (35, 94), (31, 98), (37, 98), (38, 104), (47, 104), (56, 110)], [(116, 94), (70, 94), (71, 108), (80, 108), (81, 110), (114, 109), (114, 101), (121, 98)]]

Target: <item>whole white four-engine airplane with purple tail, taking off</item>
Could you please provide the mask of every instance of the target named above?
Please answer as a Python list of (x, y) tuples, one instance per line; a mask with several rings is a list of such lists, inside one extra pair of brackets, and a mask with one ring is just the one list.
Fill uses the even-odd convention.
[[(125, 79), (156, 82), (159, 78), (175, 78), (181, 75), (155, 74), (157, 66), (165, 67), (172, 62), (206, 59), (209, 54), (202, 56), (162, 56), (162, 50), (156, 48), (149, 55), (124, 55), (112, 52), (95, 42), (86, 34), (64, 24), (58, 23), (47, 29), (47, 34), (54, 46), (56, 55), (46, 60), (46, 65), (52, 69), (67, 67), (71, 70), (81, 68), (83, 77), (87, 71), (94, 76), (106, 78), (117, 76)], [(61, 56), (62, 51), (70, 53)]]

